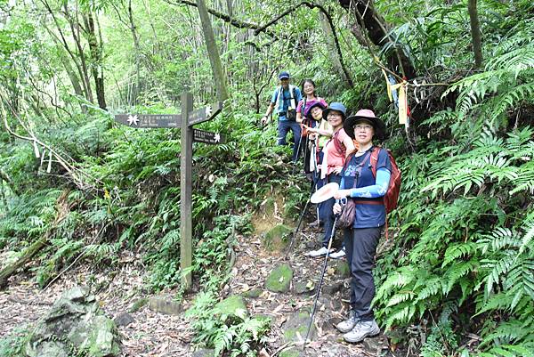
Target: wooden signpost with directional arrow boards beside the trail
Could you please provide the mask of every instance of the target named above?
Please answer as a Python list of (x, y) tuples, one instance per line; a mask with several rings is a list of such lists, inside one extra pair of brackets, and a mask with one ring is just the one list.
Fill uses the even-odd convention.
[(192, 158), (193, 142), (218, 144), (224, 141), (219, 133), (193, 129), (194, 125), (213, 119), (223, 110), (223, 102), (193, 110), (193, 95), (183, 93), (182, 114), (117, 114), (115, 121), (135, 128), (180, 128), (182, 150), (180, 153), (180, 267), (184, 274), (182, 283), (191, 286), (192, 260)]

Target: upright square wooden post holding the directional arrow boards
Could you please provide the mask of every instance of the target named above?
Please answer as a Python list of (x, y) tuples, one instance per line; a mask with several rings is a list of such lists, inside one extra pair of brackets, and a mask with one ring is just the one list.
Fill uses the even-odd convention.
[[(193, 95), (182, 93), (182, 126), (180, 152), (180, 267), (182, 272), (190, 269), (192, 256), (192, 157), (193, 128), (189, 126), (189, 114), (193, 109)], [(182, 284), (188, 289), (191, 286), (191, 273), (183, 276)]]

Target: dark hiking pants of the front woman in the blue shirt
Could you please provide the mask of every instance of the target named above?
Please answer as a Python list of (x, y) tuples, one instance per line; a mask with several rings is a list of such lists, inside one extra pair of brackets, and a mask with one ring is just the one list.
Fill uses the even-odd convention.
[(344, 230), (347, 262), (351, 268), (351, 308), (360, 320), (375, 318), (371, 302), (375, 297), (376, 246), (384, 226)]

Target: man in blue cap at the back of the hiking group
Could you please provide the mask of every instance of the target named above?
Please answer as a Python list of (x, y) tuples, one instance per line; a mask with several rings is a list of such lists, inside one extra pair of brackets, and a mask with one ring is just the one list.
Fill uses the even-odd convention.
[(274, 111), (278, 115), (278, 144), (287, 145), (286, 135), (291, 130), (295, 137), (292, 159), (296, 160), (296, 154), (301, 139), (301, 127), (296, 122), (296, 105), (302, 99), (302, 93), (295, 85), (290, 85), (290, 76), (287, 71), (279, 74), (279, 86), (274, 90), (271, 103), (262, 118), (262, 124), (266, 125), (269, 116)]

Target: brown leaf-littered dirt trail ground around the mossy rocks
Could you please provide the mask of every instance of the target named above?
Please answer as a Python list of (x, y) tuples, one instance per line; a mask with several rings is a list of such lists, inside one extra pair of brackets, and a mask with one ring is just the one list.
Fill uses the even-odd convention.
[[(283, 347), (284, 323), (299, 309), (312, 307), (313, 293), (297, 294), (292, 288), (288, 293), (271, 293), (264, 289), (264, 281), (273, 266), (289, 263), (294, 270), (292, 285), (296, 282), (319, 282), (324, 259), (312, 259), (303, 255), (317, 245), (319, 231), (303, 231), (299, 234), (289, 261), (282, 252), (271, 252), (263, 247), (259, 237), (239, 236), (235, 247), (236, 262), (232, 268), (232, 278), (223, 288), (222, 296), (242, 294), (253, 288), (261, 288), (263, 293), (256, 298), (247, 298), (247, 307), (252, 315), (263, 314), (271, 317), (271, 332), (266, 352), (269, 356), (280, 353)], [(337, 277), (336, 261), (328, 264), (323, 292), (321, 294), (315, 324), (318, 337), (309, 344), (300, 356), (372, 356), (376, 345), (387, 345), (385, 337), (376, 337), (365, 344), (344, 343), (341, 334), (333, 324), (346, 313), (347, 304), (342, 301), (348, 291), (348, 279)], [(142, 297), (147, 297), (142, 288), (142, 274), (146, 267), (141, 256), (125, 252), (119, 257), (115, 271), (89, 271), (85, 266), (65, 273), (52, 287), (41, 290), (33, 279), (19, 274), (10, 281), (8, 288), (0, 292), (0, 336), (16, 333), (17, 328), (31, 326), (61, 296), (61, 292), (76, 285), (106, 287), (96, 294), (103, 310), (110, 318), (115, 318), (128, 310)], [(170, 295), (173, 292), (169, 292)], [(190, 306), (194, 296), (186, 296), (183, 307)], [(151, 311), (146, 305), (131, 313), (134, 322), (119, 327), (122, 336), (122, 356), (192, 356), (195, 347), (190, 344), (193, 331), (183, 315), (166, 315)], [(301, 347), (302, 348), (302, 347)], [(301, 349), (299, 348), (299, 350)], [(385, 354), (384, 354), (385, 353)], [(388, 355), (383, 350), (381, 355)], [(392, 354), (389, 354), (392, 355)]]

